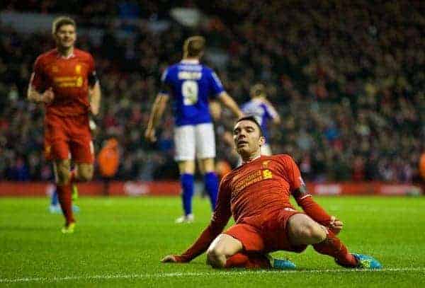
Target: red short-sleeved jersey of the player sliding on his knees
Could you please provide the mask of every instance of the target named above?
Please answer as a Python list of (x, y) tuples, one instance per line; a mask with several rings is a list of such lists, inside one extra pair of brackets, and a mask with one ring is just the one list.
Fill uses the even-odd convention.
[(290, 192), (300, 188), (302, 178), (289, 155), (261, 156), (234, 169), (223, 178), (213, 221), (227, 221), (232, 214), (239, 223), (290, 204)]

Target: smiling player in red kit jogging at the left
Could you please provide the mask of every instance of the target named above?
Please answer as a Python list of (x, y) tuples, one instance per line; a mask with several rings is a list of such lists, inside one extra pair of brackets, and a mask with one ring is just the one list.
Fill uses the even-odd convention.
[[(72, 233), (72, 185), (93, 176), (89, 113), (98, 114), (101, 90), (93, 57), (74, 47), (74, 20), (56, 18), (52, 35), (56, 48), (35, 60), (28, 99), (45, 104), (45, 156), (55, 167), (57, 192), (66, 219), (62, 232)], [(74, 171), (70, 171), (71, 159), (76, 165)]]

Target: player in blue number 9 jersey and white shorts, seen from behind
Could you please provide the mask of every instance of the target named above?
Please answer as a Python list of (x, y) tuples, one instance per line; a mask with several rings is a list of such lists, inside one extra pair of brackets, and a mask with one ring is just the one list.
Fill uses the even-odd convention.
[(193, 36), (183, 45), (181, 62), (168, 67), (162, 74), (162, 89), (152, 107), (145, 137), (155, 142), (155, 129), (164, 113), (166, 103), (173, 101), (175, 125), (174, 144), (179, 163), (184, 214), (176, 223), (192, 222), (193, 174), (195, 159), (204, 175), (205, 190), (211, 207), (217, 200), (218, 178), (215, 173), (215, 134), (209, 110), (210, 98), (217, 98), (236, 116), (242, 115), (237, 104), (226, 93), (212, 69), (200, 64), (205, 50), (205, 39)]

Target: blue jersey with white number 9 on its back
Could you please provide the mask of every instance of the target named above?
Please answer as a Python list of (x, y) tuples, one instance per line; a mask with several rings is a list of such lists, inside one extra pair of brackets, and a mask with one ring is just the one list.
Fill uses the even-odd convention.
[(225, 89), (212, 69), (193, 60), (182, 60), (168, 67), (162, 74), (162, 83), (169, 88), (173, 99), (176, 126), (211, 122), (209, 98), (215, 98)]

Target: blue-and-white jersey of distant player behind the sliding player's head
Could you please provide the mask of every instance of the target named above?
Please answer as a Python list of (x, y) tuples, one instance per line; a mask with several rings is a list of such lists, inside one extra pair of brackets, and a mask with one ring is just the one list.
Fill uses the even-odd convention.
[(268, 122), (276, 117), (275, 111), (268, 107), (268, 105), (260, 99), (254, 98), (242, 105), (242, 112), (245, 115), (252, 115), (255, 117), (257, 122), (259, 122), (261, 129), (263, 130), (266, 142), (268, 142)]

